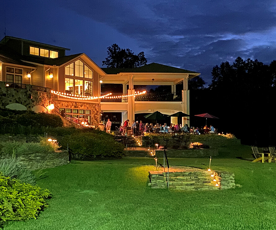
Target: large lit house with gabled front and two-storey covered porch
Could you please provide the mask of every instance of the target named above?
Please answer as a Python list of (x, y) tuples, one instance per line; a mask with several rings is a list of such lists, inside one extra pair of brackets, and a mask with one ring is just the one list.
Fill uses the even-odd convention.
[[(101, 113), (121, 113), (122, 121), (157, 110), (189, 114), (188, 80), (199, 73), (157, 63), (134, 69), (100, 68), (85, 53), (66, 56), (66, 50), (69, 49), (5, 36), (0, 41), (0, 81), (7, 88), (50, 88), (55, 108), (76, 120), (87, 118), (92, 125), (101, 121)], [(114, 88), (116, 84), (123, 85), (122, 92), (103, 95), (101, 84), (114, 84)], [(177, 84), (183, 84), (181, 95), (176, 95)], [(170, 85), (171, 91), (140, 94), (136, 85)], [(2, 106), (13, 102), (6, 101)], [(25, 106), (19, 99), (16, 102)], [(177, 122), (174, 117), (171, 121)]]

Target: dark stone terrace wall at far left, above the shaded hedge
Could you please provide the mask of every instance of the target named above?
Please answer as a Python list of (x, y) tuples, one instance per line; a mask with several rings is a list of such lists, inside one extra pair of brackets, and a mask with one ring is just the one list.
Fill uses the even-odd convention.
[(0, 108), (13, 103), (22, 104), (27, 110), (36, 105), (46, 108), (53, 103), (53, 96), (50, 88), (46, 88), (46, 92), (33, 90), (31, 85), (26, 85), (26, 89), (11, 88), (6, 86), (6, 82), (0, 81)]

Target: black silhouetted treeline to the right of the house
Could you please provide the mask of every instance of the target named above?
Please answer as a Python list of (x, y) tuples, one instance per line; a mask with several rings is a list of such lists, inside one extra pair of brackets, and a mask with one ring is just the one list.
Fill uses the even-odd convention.
[(189, 81), (190, 114), (219, 117), (208, 124), (215, 122), (219, 131), (233, 133), (243, 144), (276, 145), (276, 61), (265, 65), (238, 57), (232, 65), (222, 62), (213, 67), (212, 77), (207, 88), (200, 77)]

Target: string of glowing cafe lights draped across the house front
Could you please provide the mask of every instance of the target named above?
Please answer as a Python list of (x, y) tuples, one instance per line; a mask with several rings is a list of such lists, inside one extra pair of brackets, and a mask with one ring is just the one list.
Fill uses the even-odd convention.
[(112, 93), (109, 93), (109, 94), (105, 94), (105, 95), (102, 95), (100, 97), (91, 97), (91, 96), (84, 96), (84, 95), (76, 95), (76, 94), (68, 94), (68, 93), (63, 93), (63, 92), (58, 92), (58, 91), (54, 91), (54, 90), (51, 90), (51, 93), (52, 94), (56, 94), (58, 96), (61, 96), (61, 97), (65, 97), (65, 98), (70, 98), (70, 99), (77, 99), (77, 100), (95, 100), (95, 99), (98, 99), (98, 98), (107, 98), (107, 99), (114, 99), (114, 98), (128, 98), (128, 97), (136, 97), (138, 95), (141, 95), (141, 94), (145, 94), (146, 91), (144, 90), (143, 92), (139, 92), (139, 91), (135, 91), (134, 94), (127, 94), (127, 95), (119, 95), (119, 96), (111, 96)]

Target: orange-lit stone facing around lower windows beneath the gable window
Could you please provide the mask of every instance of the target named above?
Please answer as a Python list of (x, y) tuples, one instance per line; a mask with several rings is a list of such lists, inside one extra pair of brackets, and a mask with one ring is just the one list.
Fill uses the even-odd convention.
[[(91, 110), (91, 124), (98, 126), (99, 117), (99, 104), (85, 103), (85, 102), (72, 102), (72, 101), (54, 101), (56, 108), (78, 108), (78, 109), (90, 109)], [(88, 114), (86, 114), (88, 115)], [(89, 114), (90, 115), (90, 114)]]

